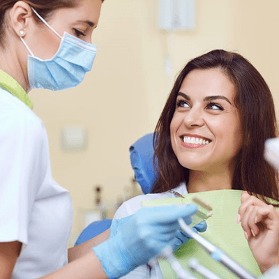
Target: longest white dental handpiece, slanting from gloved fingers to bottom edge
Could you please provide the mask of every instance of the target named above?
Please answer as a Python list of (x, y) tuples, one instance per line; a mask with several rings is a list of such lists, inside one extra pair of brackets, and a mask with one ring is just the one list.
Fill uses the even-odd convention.
[(217, 246), (214, 246), (212, 243), (204, 239), (199, 234), (193, 232), (188, 225), (184, 222), (182, 218), (179, 218), (179, 225), (190, 237), (195, 239), (197, 243), (199, 243), (213, 259), (223, 264), (227, 269), (232, 271), (236, 276), (239, 276), (241, 279), (256, 279), (252, 274), (250, 274), (246, 269), (231, 259), (228, 255), (225, 254), (222, 250), (220, 250)]

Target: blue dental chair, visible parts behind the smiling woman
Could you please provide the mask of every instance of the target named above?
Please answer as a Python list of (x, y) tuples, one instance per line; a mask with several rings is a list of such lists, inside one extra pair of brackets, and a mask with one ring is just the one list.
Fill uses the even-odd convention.
[[(153, 167), (153, 133), (144, 135), (130, 146), (130, 163), (135, 172), (135, 180), (140, 184), (144, 194), (151, 193), (156, 181)], [(158, 163), (155, 161), (155, 167)], [(77, 238), (75, 246), (105, 232), (112, 225), (112, 219), (103, 219), (88, 225)]]

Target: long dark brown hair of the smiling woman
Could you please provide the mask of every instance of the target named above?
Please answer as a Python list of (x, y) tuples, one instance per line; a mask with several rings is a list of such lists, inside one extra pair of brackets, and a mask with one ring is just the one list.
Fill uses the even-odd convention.
[(195, 69), (211, 68), (223, 70), (236, 86), (234, 103), (241, 119), (243, 146), (234, 169), (232, 188), (246, 190), (262, 199), (270, 197), (278, 201), (278, 174), (264, 160), (264, 142), (271, 137), (278, 137), (271, 91), (262, 75), (247, 59), (225, 50), (213, 50), (189, 61), (177, 77), (154, 133), (158, 179), (151, 193), (165, 192), (179, 186), (183, 181), (188, 183), (189, 169), (180, 165), (172, 150), (170, 123), (176, 107), (177, 93), (186, 75)]

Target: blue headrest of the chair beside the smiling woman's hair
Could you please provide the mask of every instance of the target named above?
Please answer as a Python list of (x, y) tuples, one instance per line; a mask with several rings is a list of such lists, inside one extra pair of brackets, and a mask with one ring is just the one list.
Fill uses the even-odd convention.
[(153, 155), (153, 133), (144, 135), (130, 146), (130, 162), (135, 172), (135, 180), (140, 184), (144, 194), (151, 193), (156, 181)]

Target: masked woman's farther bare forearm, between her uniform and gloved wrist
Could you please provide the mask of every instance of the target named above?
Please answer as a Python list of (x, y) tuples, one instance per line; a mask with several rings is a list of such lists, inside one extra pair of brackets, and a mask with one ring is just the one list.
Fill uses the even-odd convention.
[(88, 241), (81, 243), (73, 248), (68, 249), (68, 262), (73, 262), (75, 259), (78, 259), (86, 253), (91, 252), (91, 248), (97, 246), (98, 244), (106, 241), (110, 237), (110, 229), (107, 229), (102, 234), (98, 234), (93, 239), (89, 239)]

